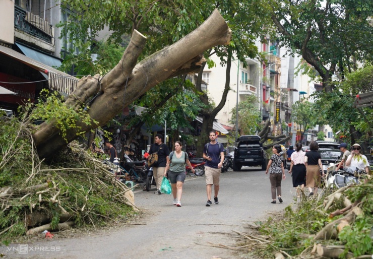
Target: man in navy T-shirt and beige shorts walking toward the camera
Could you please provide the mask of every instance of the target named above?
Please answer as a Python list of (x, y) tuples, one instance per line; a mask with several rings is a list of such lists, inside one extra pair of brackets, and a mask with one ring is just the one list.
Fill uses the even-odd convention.
[(214, 131), (209, 133), (209, 138), (210, 142), (207, 143), (203, 149), (203, 158), (207, 160), (205, 164), (207, 207), (212, 205), (212, 185), (214, 185), (214, 203), (219, 204), (219, 179), (221, 166), (224, 161), (224, 148), (223, 145), (216, 142), (217, 137)]

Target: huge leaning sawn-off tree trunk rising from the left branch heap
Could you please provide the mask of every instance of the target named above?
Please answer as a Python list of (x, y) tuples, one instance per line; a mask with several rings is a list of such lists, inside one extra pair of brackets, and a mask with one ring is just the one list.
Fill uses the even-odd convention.
[[(105, 125), (117, 115), (123, 107), (131, 104), (160, 82), (178, 75), (199, 70), (204, 61), (203, 53), (207, 49), (228, 44), (231, 31), (217, 10), (195, 31), (176, 43), (150, 55), (136, 64), (146, 37), (134, 31), (131, 42), (119, 63), (104, 76), (82, 78), (66, 101), (66, 105), (79, 109), (91, 96), (92, 102), (88, 114), (97, 125), (77, 122), (80, 132), (87, 132), (97, 126)], [(98, 87), (99, 86), (99, 87)], [(43, 123), (33, 134), (39, 157), (52, 156), (67, 143), (77, 138), (78, 130), (69, 130), (66, 140), (59, 134), (54, 123)]]

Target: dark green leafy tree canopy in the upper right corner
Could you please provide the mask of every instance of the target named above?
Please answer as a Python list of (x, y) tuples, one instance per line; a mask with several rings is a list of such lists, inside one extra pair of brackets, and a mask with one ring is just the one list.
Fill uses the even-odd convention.
[(273, 4), (272, 20), (281, 42), (301, 54), (323, 79), (328, 92), (331, 76), (351, 72), (356, 61), (372, 60), (373, 27), (370, 0), (289, 0)]

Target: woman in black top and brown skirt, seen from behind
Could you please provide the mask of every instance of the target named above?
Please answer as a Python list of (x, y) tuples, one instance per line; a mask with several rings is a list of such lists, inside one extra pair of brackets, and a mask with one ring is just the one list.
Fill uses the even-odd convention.
[(325, 174), (323, 164), (321, 163), (321, 155), (318, 152), (318, 143), (316, 141), (312, 142), (311, 145), (309, 145), (309, 149), (310, 151), (304, 155), (304, 163), (307, 168), (305, 186), (309, 189), (309, 196), (313, 196), (314, 193), (318, 193), (318, 188), (321, 182), (319, 169), (321, 169), (323, 176), (325, 176)]

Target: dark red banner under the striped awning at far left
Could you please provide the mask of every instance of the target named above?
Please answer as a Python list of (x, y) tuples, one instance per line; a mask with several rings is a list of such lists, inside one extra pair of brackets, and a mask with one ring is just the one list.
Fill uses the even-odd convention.
[[(31, 102), (35, 100), (35, 90), (36, 84), (35, 83), (24, 83), (29, 82), (29, 80), (25, 80), (23, 78), (14, 77), (8, 74), (0, 73), (0, 82), (9, 82), (8, 83), (0, 83), (0, 86), (7, 88), (8, 90), (17, 93), (17, 95), (0, 95), (0, 101), (7, 102), (7, 103), (18, 103), (23, 104), (30, 99)], [(15, 84), (20, 83), (20, 84)]]

